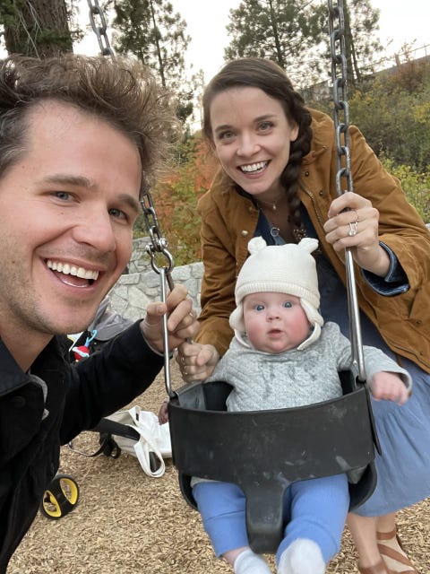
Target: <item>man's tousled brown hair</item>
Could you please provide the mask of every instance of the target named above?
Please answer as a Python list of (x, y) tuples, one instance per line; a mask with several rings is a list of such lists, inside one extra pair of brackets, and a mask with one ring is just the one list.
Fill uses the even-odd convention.
[(179, 133), (171, 94), (136, 60), (11, 56), (0, 61), (0, 177), (25, 153), (28, 112), (44, 100), (72, 104), (126, 135), (139, 150), (142, 183), (159, 176)]

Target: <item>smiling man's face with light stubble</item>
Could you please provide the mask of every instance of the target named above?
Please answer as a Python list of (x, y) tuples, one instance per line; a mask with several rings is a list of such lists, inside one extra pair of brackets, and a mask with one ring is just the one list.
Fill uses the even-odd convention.
[(125, 268), (141, 161), (125, 135), (68, 104), (38, 104), (28, 126), (25, 154), (0, 178), (0, 333), (46, 342), (88, 326)]

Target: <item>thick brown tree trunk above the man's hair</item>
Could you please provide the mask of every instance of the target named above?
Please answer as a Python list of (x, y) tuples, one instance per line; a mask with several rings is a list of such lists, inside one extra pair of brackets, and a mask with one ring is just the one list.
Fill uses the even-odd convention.
[(0, 0), (0, 23), (9, 54), (57, 56), (73, 51), (81, 30), (70, 30), (73, 5), (65, 0)]

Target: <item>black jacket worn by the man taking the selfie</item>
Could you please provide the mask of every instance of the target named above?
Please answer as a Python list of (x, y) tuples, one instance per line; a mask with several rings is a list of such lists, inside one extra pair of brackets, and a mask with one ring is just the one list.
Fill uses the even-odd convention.
[(0, 574), (56, 474), (60, 445), (130, 403), (163, 364), (139, 323), (73, 366), (64, 341), (55, 337), (30, 374), (0, 341)]

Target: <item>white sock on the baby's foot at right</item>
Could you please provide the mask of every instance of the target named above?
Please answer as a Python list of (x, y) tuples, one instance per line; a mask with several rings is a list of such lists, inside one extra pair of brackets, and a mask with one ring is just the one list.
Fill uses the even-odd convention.
[(318, 544), (297, 538), (280, 555), (279, 574), (324, 574), (325, 563)]

